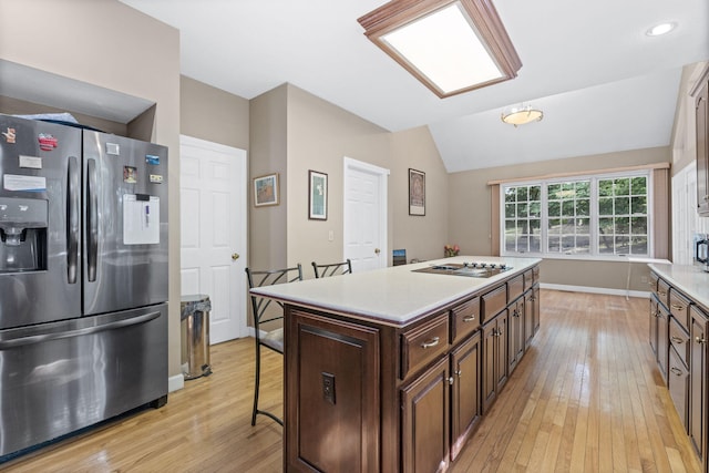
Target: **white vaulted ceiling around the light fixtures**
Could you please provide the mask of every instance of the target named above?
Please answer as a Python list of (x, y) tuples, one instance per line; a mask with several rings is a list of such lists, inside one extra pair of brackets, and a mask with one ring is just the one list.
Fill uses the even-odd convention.
[[(709, 60), (707, 0), (495, 0), (518, 76), (439, 99), (363, 34), (383, 0), (121, 0), (181, 30), (182, 73), (245, 99), (285, 82), (390, 131), (429, 125), (449, 172), (670, 142), (681, 68)], [(662, 21), (666, 37), (645, 31)], [(544, 120), (517, 128), (504, 107)]]

